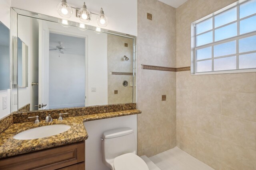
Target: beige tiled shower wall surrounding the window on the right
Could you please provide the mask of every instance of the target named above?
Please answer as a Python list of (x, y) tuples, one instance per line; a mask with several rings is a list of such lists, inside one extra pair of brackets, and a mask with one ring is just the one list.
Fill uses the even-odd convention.
[[(177, 66), (190, 66), (190, 23), (236, 0), (177, 8)], [(216, 170), (256, 169), (256, 73), (177, 72), (177, 146)]]

